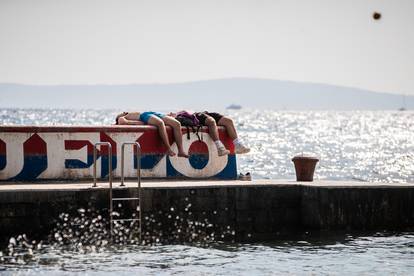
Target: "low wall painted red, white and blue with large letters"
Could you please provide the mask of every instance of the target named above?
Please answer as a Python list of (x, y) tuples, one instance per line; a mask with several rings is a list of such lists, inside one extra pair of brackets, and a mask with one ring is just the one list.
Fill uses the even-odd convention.
[[(173, 133), (167, 128), (170, 141)], [(142, 148), (142, 177), (151, 178), (216, 178), (237, 177), (234, 146), (225, 129), (220, 139), (230, 150), (219, 157), (207, 133), (196, 134), (183, 128), (184, 149), (190, 158), (169, 157), (157, 129), (152, 126), (110, 127), (0, 127), (0, 181), (32, 181), (47, 179), (90, 179), (93, 176), (93, 145), (109, 142), (112, 146), (114, 177), (121, 175), (121, 146), (124, 142), (139, 142)], [(177, 152), (175, 142), (171, 145)], [(125, 148), (125, 176), (136, 177), (135, 151)], [(108, 149), (98, 151), (97, 175), (108, 175)]]

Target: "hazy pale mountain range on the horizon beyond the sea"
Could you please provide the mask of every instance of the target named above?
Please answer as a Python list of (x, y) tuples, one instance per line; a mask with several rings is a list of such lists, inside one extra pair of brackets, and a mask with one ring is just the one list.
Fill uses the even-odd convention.
[(222, 110), (230, 104), (280, 110), (397, 110), (414, 96), (327, 84), (267, 79), (219, 79), (176, 84), (0, 84), (1, 108)]

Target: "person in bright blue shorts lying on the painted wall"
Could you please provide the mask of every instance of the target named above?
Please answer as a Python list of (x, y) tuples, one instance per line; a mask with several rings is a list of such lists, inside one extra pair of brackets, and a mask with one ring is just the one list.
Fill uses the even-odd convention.
[(161, 140), (167, 147), (169, 156), (175, 156), (175, 152), (170, 147), (167, 130), (165, 125), (170, 126), (174, 132), (175, 142), (177, 143), (178, 156), (188, 158), (188, 154), (183, 149), (181, 124), (175, 118), (154, 111), (147, 112), (122, 112), (115, 119), (117, 125), (152, 125), (158, 128)]

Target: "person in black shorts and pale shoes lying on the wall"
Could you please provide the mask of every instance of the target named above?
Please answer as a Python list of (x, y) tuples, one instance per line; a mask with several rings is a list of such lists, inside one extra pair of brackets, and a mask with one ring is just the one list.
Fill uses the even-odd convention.
[(208, 111), (190, 113), (188, 111), (180, 111), (177, 113), (169, 113), (168, 115), (176, 118), (183, 126), (207, 126), (210, 137), (217, 147), (218, 156), (227, 155), (230, 151), (220, 141), (217, 126), (224, 126), (226, 128), (227, 134), (233, 141), (236, 154), (248, 153), (250, 151), (250, 148), (245, 146), (238, 137), (233, 120), (220, 113)]

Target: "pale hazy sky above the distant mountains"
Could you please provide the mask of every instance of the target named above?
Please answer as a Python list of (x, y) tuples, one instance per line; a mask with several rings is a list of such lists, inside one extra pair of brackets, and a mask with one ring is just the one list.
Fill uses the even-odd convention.
[(414, 94), (413, 11), (412, 0), (0, 0), (0, 82), (258, 77)]

